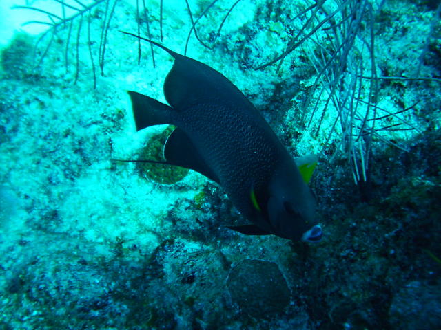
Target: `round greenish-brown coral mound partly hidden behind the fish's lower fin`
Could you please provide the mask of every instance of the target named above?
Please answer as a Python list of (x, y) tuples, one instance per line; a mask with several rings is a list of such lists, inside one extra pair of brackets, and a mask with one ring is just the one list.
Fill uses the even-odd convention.
[[(163, 147), (173, 130), (174, 126), (169, 126), (162, 133), (152, 136), (143, 148), (139, 159), (156, 160), (158, 162), (165, 161), (163, 158)], [(156, 181), (159, 184), (175, 184), (181, 181), (188, 173), (187, 168), (162, 164), (138, 163), (138, 168), (143, 177)]]

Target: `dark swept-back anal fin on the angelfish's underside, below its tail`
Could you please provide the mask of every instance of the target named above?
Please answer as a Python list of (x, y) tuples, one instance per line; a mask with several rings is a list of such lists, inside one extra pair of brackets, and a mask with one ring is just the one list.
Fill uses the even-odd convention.
[(181, 129), (175, 129), (168, 137), (164, 146), (164, 157), (169, 164), (196, 170), (219, 183), (217, 175), (205, 164), (192, 141)]

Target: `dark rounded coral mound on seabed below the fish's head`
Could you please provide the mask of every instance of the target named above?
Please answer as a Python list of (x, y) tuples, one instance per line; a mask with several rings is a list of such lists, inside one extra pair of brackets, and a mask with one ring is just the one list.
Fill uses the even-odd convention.
[(285, 277), (271, 261), (241, 261), (229, 272), (227, 286), (233, 302), (255, 318), (283, 311), (291, 296)]

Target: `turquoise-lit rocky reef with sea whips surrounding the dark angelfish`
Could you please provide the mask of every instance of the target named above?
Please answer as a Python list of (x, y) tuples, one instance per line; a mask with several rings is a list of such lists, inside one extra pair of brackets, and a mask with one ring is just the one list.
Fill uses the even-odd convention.
[[(439, 0), (0, 3), (0, 329), (441, 329)], [(127, 91), (165, 102), (172, 57), (119, 30), (318, 155), (320, 242), (239, 234), (209, 179), (112, 161), (171, 131), (136, 132)]]

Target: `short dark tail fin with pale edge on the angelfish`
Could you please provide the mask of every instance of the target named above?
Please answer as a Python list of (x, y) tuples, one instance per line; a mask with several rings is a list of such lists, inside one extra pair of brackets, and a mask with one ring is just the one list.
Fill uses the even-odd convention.
[(129, 91), (136, 131), (149, 126), (173, 124), (172, 107), (136, 91)]

